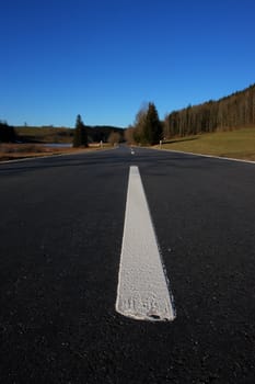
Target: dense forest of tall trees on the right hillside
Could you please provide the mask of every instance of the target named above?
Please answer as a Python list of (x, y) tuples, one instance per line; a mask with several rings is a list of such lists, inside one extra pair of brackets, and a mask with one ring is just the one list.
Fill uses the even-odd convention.
[(173, 111), (163, 126), (165, 138), (255, 126), (255, 84), (218, 101)]

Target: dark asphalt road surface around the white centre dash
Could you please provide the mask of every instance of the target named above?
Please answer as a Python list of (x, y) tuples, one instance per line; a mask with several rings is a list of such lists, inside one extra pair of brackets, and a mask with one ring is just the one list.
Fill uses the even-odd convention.
[[(115, 310), (130, 166), (173, 321)], [(1, 383), (254, 383), (255, 165), (127, 147), (0, 165)]]

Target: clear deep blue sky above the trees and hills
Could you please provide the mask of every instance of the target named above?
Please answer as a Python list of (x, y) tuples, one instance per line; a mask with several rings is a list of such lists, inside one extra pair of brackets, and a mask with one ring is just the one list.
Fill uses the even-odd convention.
[(0, 120), (127, 126), (255, 82), (254, 0), (1, 0)]

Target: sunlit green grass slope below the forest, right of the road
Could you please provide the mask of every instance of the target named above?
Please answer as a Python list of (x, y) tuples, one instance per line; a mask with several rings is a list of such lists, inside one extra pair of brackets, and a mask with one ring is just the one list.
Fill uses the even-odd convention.
[(255, 128), (174, 138), (162, 148), (255, 161)]

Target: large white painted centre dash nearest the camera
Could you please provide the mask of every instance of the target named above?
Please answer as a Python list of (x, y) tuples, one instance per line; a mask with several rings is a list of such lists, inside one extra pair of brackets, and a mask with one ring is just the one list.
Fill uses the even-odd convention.
[(130, 167), (116, 310), (139, 320), (173, 320), (175, 310), (138, 167)]

